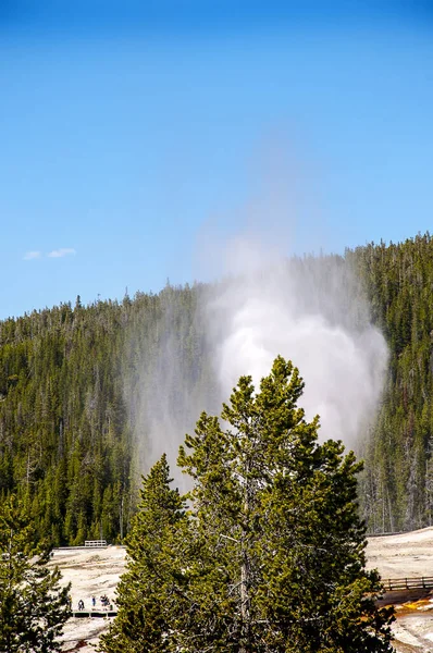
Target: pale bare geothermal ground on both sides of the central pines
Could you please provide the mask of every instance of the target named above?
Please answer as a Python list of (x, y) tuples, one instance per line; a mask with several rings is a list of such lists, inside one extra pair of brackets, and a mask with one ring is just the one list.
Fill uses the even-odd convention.
[[(371, 538), (367, 557), (368, 567), (378, 568), (384, 580), (433, 576), (433, 528)], [(59, 566), (64, 583), (72, 582), (74, 609), (79, 600), (86, 609), (90, 608), (92, 596), (99, 609), (101, 596), (114, 601), (115, 587), (125, 566), (125, 550), (120, 546), (55, 550), (51, 564)], [(407, 601), (397, 606), (396, 614), (393, 631), (398, 653), (433, 653), (433, 593), (431, 600)], [(109, 621), (109, 618), (70, 619), (64, 629), (63, 651), (95, 652), (94, 646)]]

